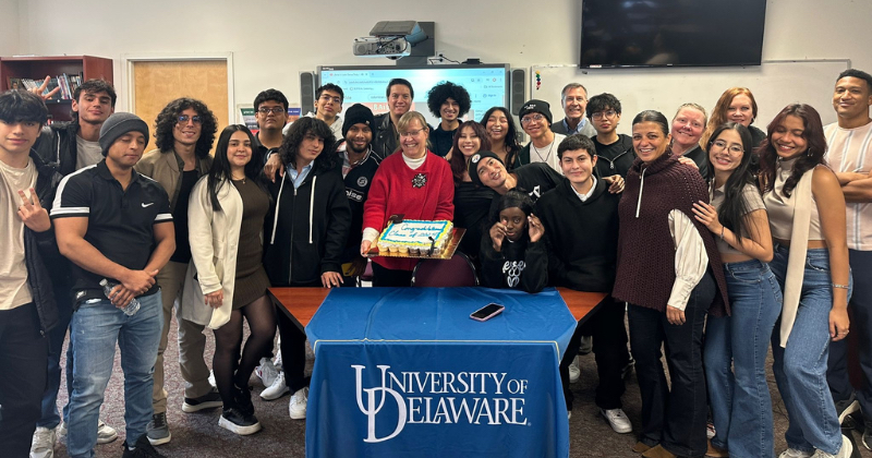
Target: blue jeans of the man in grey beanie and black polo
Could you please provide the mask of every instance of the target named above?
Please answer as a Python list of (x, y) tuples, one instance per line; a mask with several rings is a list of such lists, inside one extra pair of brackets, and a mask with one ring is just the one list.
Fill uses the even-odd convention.
[(66, 450), (71, 457), (94, 456), (97, 421), (106, 385), (112, 375), (116, 342), (124, 372), (124, 422), (128, 443), (145, 434), (152, 420), (152, 388), (162, 306), (160, 291), (141, 297), (140, 311), (128, 316), (108, 300), (84, 303), (73, 313), (73, 393), (69, 403)]

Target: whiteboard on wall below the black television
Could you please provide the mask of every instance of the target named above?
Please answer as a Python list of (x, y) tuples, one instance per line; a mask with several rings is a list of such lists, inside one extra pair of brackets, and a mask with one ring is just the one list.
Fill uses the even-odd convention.
[(531, 68), (529, 98), (550, 104), (557, 122), (564, 118), (560, 91), (567, 83), (581, 83), (589, 97), (614, 94), (620, 100), (622, 112), (618, 132), (630, 134), (632, 119), (642, 110), (654, 109), (671, 120), (681, 104), (692, 101), (705, 107), (711, 116), (724, 91), (741, 86), (754, 94), (758, 117), (753, 125), (765, 132), (766, 124), (775, 114), (794, 103), (814, 107), (824, 125), (835, 122), (833, 88), (838, 74), (849, 65), (848, 59), (764, 61), (760, 67), (748, 68), (579, 69), (574, 65), (542, 65)]

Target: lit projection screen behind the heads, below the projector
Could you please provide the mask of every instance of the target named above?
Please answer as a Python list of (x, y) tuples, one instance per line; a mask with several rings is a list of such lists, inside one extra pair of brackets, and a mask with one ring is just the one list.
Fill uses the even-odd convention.
[(424, 114), (431, 125), (438, 119), (427, 109), (427, 93), (443, 81), (450, 81), (467, 88), (472, 100), (464, 120), (481, 120), (491, 107), (508, 107), (509, 65), (426, 65), (426, 67), (319, 67), (318, 85), (334, 83), (346, 95), (342, 109), (354, 104), (370, 107), (374, 113), (388, 111), (385, 91), (395, 77), (409, 80), (415, 96), (412, 109)]

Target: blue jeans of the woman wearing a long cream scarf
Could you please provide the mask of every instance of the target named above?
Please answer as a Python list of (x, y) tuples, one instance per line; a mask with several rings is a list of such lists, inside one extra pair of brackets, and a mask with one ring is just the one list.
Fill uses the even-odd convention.
[[(787, 246), (776, 244), (770, 265), (782, 289), (787, 275)], [(799, 309), (787, 347), (780, 345), (780, 323), (772, 333), (775, 359), (772, 371), (787, 408), (789, 425), (784, 435), (787, 445), (798, 450), (813, 451), (816, 448), (835, 455), (841, 448), (841, 429), (826, 384), (829, 311), (833, 309), (831, 284), (829, 252), (810, 249), (806, 256)]]

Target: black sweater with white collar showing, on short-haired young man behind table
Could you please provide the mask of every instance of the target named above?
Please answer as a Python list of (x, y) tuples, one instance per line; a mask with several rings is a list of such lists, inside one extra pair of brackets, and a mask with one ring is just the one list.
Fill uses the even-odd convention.
[(548, 243), (548, 277), (555, 286), (580, 291), (610, 292), (618, 257), (618, 202), (596, 180), (591, 196), (581, 202), (564, 180), (536, 202), (536, 216)]

